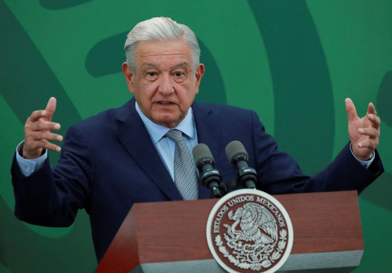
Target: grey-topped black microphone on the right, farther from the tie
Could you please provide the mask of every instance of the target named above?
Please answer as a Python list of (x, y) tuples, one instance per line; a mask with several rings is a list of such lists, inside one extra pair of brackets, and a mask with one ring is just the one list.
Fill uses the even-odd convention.
[(226, 146), (226, 155), (231, 165), (238, 170), (238, 183), (245, 188), (255, 189), (257, 173), (255, 169), (249, 168), (248, 158), (244, 145), (238, 140), (232, 141)]

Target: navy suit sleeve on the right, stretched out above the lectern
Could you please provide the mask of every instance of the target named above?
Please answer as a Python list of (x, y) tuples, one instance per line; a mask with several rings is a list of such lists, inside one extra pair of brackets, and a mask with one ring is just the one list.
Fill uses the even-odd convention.
[(354, 158), (347, 144), (326, 169), (310, 177), (302, 173), (289, 154), (278, 151), (276, 142), (265, 133), (253, 111), (252, 130), (258, 188), (270, 194), (343, 190), (360, 193), (384, 171), (377, 151), (367, 170)]

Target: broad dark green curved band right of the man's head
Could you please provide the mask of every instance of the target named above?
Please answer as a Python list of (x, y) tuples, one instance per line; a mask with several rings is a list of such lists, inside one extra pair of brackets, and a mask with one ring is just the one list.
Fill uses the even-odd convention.
[(331, 161), (335, 130), (331, 80), (315, 23), (304, 0), (248, 3), (270, 64), (274, 137), (304, 172), (315, 174)]

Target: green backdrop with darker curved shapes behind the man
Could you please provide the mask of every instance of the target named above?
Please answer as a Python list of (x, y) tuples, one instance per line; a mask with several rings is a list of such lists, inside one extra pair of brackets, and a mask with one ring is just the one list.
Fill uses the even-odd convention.
[[(93, 272), (88, 216), (69, 228), (13, 215), (9, 167), (25, 119), (58, 99), (69, 125), (130, 98), (121, 63), (126, 33), (155, 16), (197, 35), (206, 65), (196, 99), (255, 110), (279, 149), (308, 174), (348, 141), (344, 98), (381, 117), (385, 174), (360, 196), (365, 253), (356, 273), (391, 272), (392, 1), (0, 0), (0, 272)], [(52, 164), (58, 155), (51, 153)]]

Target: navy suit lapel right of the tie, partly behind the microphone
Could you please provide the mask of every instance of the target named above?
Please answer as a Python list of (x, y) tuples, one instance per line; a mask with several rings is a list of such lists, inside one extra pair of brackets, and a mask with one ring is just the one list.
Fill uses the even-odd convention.
[[(220, 124), (214, 116), (214, 112), (209, 104), (194, 102), (192, 110), (195, 118), (197, 141), (204, 143), (210, 148), (215, 162), (220, 160), (221, 129)], [(203, 185), (199, 185), (199, 199), (210, 198), (211, 193)]]

